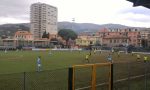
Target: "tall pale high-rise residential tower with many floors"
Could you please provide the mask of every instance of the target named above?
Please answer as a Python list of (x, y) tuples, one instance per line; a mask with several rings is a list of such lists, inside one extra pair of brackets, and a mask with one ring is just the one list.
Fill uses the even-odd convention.
[(30, 7), (30, 32), (34, 39), (42, 38), (46, 31), (57, 34), (57, 8), (45, 3), (34, 3)]

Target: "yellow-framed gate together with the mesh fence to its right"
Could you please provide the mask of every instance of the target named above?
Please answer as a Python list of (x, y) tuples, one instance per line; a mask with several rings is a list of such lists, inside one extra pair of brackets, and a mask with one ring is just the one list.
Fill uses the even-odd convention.
[(150, 62), (87, 64), (72, 68), (74, 85), (70, 90), (150, 90)]

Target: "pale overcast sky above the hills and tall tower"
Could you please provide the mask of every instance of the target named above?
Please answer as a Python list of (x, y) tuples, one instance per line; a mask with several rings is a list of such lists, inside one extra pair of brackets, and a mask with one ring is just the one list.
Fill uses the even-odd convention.
[(37, 2), (57, 7), (59, 22), (150, 27), (150, 9), (126, 0), (0, 0), (0, 24), (29, 23), (30, 5)]

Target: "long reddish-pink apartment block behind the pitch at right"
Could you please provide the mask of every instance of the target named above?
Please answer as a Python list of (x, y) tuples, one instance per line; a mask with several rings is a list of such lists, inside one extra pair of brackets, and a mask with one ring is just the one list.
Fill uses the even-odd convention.
[[(103, 32), (104, 33), (104, 32)], [(108, 46), (140, 46), (140, 32), (134, 28), (108, 29), (103, 36), (103, 45)]]

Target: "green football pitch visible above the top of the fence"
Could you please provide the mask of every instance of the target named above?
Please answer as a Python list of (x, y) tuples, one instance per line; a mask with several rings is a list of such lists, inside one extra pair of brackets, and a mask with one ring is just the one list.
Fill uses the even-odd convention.
[[(42, 70), (55, 70), (68, 68), (72, 65), (88, 64), (85, 56), (89, 51), (0, 51), (0, 74), (32, 72), (36, 71), (36, 59), (41, 56)], [(107, 61), (108, 53), (92, 53), (89, 57), (90, 63), (103, 63)], [(117, 61), (134, 61), (136, 55), (117, 53), (112, 55), (114, 62)], [(141, 60), (143, 57), (141, 56)]]

